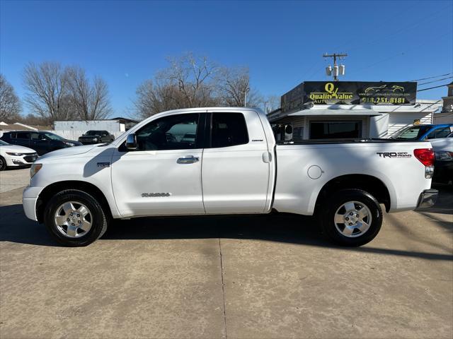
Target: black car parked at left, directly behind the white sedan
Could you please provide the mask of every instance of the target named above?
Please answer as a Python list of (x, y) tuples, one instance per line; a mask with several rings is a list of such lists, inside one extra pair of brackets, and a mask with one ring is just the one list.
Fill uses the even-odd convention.
[(0, 138), (11, 145), (18, 145), (33, 148), (38, 155), (59, 150), (60, 148), (68, 148), (79, 146), (79, 141), (67, 140), (57, 134), (45, 131), (16, 131), (4, 132)]

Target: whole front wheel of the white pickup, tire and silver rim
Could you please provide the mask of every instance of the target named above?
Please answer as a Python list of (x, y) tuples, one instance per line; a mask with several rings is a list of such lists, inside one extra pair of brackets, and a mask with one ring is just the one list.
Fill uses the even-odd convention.
[(64, 246), (86, 246), (103, 236), (108, 214), (96, 198), (68, 189), (53, 196), (45, 209), (44, 222), (52, 237)]

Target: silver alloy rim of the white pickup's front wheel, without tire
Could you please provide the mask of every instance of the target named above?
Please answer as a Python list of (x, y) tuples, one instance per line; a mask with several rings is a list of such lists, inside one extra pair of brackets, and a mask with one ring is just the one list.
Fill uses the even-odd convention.
[(91, 211), (77, 201), (63, 203), (55, 212), (55, 225), (65, 237), (82, 237), (91, 229), (92, 224)]

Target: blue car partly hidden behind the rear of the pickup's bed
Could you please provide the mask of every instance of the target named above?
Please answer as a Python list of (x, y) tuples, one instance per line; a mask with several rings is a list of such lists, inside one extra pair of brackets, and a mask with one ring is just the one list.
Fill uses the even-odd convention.
[(390, 138), (395, 140), (430, 140), (435, 138), (445, 138), (453, 132), (453, 124), (438, 125), (413, 125), (401, 129), (394, 133)]

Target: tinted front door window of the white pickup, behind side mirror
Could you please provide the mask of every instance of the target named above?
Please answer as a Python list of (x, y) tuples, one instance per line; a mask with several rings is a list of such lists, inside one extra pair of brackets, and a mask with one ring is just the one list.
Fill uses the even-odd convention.
[(200, 114), (176, 114), (151, 121), (137, 131), (137, 150), (197, 148)]

